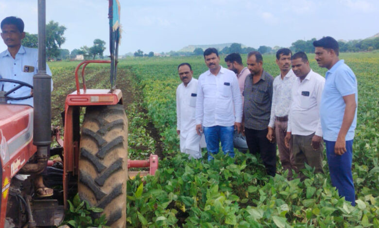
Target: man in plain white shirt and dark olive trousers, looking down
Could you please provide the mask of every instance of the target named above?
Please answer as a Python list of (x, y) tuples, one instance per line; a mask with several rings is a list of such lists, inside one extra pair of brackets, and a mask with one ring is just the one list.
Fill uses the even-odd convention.
[[(310, 69), (308, 57), (302, 51), (292, 56), (291, 64), (297, 79), (292, 87), (286, 147), (291, 140), (297, 173), (305, 168), (305, 163), (315, 168), (315, 173), (324, 173), (319, 111), (325, 78)], [(306, 176), (301, 172), (300, 178), (303, 180)]]

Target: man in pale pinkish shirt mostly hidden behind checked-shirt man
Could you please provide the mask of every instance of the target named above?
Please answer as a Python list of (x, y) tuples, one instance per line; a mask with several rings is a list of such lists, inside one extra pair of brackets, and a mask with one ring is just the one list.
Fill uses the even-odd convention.
[[(231, 53), (225, 57), (225, 63), (228, 66), (228, 69), (236, 73), (238, 84), (240, 85), (240, 92), (242, 96), (242, 107), (243, 107), (243, 89), (245, 88), (245, 79), (246, 76), (250, 74), (250, 71), (247, 67), (244, 67), (242, 64), (242, 58), (239, 53)], [(247, 143), (246, 137), (241, 133), (238, 133), (237, 130), (234, 131), (233, 136), (233, 145), (235, 148), (239, 149), (242, 153), (247, 152)]]

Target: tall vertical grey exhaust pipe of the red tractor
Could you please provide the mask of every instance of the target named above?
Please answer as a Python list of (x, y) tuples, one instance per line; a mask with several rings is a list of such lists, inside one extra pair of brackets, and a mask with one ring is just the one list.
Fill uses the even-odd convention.
[(26, 164), (22, 172), (40, 173), (46, 166), (51, 144), (52, 77), (46, 74), (46, 0), (38, 0), (38, 72), (33, 76), (34, 129), (37, 163)]

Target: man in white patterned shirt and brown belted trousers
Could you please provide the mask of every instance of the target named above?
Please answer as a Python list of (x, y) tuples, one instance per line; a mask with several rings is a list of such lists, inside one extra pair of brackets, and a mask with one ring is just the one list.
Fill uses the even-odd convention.
[(291, 105), (291, 88), (296, 80), (296, 75), (291, 69), (291, 57), (290, 49), (283, 48), (276, 51), (276, 64), (280, 69), (280, 74), (273, 82), (273, 102), (266, 136), (270, 141), (276, 140), (280, 162), (283, 171), (288, 170), (289, 179), (292, 179), (294, 161), (291, 148), (285, 146), (284, 138), (287, 133), (288, 112)]

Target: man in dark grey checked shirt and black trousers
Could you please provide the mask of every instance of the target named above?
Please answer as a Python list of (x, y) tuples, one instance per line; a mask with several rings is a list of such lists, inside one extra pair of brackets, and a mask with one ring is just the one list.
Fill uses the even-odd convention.
[(250, 74), (246, 77), (243, 90), (245, 97), (244, 129), (250, 153), (259, 153), (267, 174), (274, 177), (276, 144), (266, 138), (267, 126), (270, 122), (274, 78), (263, 70), (262, 65), (263, 58), (258, 51), (251, 51), (247, 54), (247, 68), (250, 70)]

